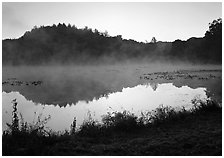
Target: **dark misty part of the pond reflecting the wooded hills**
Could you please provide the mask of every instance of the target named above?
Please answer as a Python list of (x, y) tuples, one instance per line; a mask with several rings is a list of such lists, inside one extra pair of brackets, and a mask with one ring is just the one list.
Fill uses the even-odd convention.
[[(161, 71), (155, 67), (12, 67), (3, 68), (3, 91), (19, 92), (26, 99), (41, 104), (76, 104), (80, 100), (92, 101), (122, 88), (150, 82), (154, 90), (157, 83), (187, 85), (193, 89), (206, 87), (218, 102), (222, 102), (221, 70)], [(41, 84), (38, 84), (41, 83)], [(37, 85), (36, 85), (37, 84)]]

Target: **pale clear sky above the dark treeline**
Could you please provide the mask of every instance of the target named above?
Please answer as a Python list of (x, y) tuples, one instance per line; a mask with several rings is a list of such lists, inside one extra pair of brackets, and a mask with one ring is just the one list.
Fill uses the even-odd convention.
[(221, 16), (221, 2), (3, 2), (2, 38), (18, 38), (35, 25), (70, 23), (137, 41), (186, 40), (203, 37), (208, 23)]

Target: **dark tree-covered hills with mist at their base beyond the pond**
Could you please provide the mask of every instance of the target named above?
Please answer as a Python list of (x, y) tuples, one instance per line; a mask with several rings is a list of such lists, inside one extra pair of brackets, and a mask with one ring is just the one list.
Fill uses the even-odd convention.
[[(149, 28), (150, 29), (150, 28)], [(34, 27), (18, 39), (2, 41), (3, 65), (86, 64), (130, 61), (222, 62), (222, 19), (209, 23), (202, 38), (150, 43), (110, 36), (88, 27), (63, 24)]]

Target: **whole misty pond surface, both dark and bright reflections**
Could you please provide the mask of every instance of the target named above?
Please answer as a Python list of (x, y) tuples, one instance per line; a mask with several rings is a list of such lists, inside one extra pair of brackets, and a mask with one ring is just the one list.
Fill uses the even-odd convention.
[(192, 99), (206, 100), (208, 92), (221, 103), (220, 69), (195, 71), (188, 67), (180, 72), (179, 67), (166, 68), (3, 68), (3, 130), (6, 122), (11, 122), (13, 99), (17, 99), (25, 121), (32, 123), (40, 114), (42, 118), (50, 115), (47, 127), (55, 131), (69, 129), (74, 117), (77, 126), (89, 115), (101, 121), (108, 111), (128, 110), (140, 115), (161, 104), (188, 109)]

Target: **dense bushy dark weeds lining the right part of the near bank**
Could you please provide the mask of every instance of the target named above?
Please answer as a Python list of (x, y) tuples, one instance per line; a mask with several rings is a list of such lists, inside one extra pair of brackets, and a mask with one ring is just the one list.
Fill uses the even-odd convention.
[(176, 110), (171, 106), (160, 105), (150, 112), (142, 112), (140, 117), (129, 111), (108, 112), (102, 117), (102, 123), (97, 123), (93, 119), (83, 123), (79, 134), (85, 136), (99, 136), (101, 134), (125, 132), (132, 133), (142, 128), (159, 126), (161, 124), (177, 123), (184, 121), (192, 115), (200, 115), (207, 112), (219, 111), (221, 106), (214, 100), (207, 101), (192, 100), (193, 107), (186, 110), (184, 107)]

